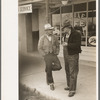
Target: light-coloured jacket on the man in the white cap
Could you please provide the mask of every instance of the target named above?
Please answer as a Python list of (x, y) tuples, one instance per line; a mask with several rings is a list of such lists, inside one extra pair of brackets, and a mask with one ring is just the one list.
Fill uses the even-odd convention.
[(50, 42), (46, 34), (41, 36), (38, 43), (38, 50), (42, 54), (42, 56), (45, 56), (48, 53), (54, 53), (58, 55), (60, 48), (57, 37), (52, 35)]

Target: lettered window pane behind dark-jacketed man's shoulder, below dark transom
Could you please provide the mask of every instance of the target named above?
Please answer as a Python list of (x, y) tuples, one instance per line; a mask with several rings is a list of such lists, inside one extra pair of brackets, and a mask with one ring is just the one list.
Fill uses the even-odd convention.
[(74, 28), (81, 34), (81, 45), (86, 45), (86, 12), (74, 12)]

